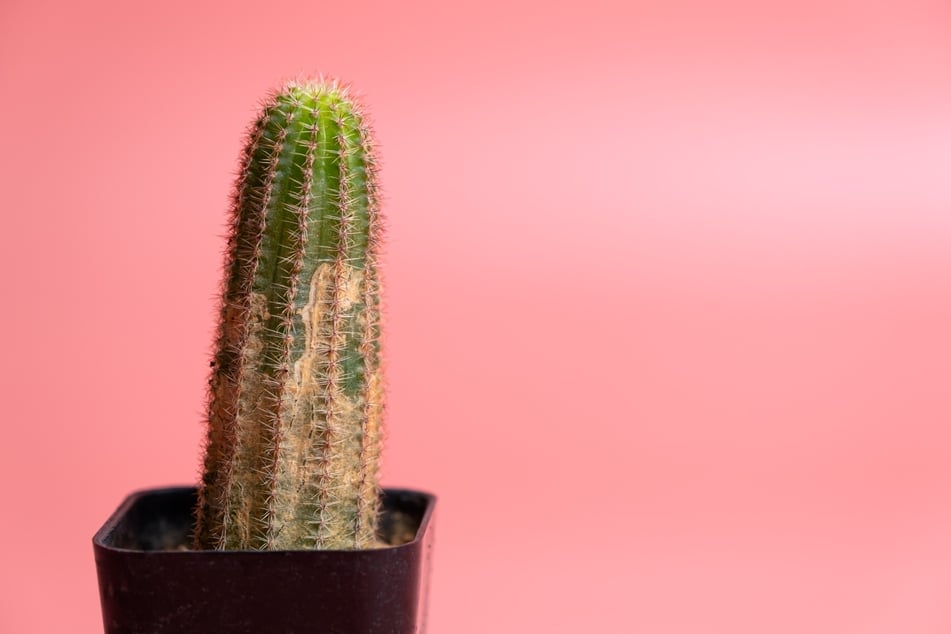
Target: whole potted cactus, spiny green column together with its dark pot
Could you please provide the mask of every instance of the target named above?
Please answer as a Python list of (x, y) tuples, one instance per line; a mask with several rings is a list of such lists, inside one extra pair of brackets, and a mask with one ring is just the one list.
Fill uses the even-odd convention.
[(106, 632), (421, 632), (435, 498), (377, 483), (381, 217), (364, 116), (292, 82), (232, 201), (197, 488), (93, 539)]

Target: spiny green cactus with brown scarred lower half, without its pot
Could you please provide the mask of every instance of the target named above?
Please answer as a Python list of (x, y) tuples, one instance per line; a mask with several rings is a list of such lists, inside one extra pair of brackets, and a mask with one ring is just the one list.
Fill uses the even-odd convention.
[(293, 82), (248, 133), (195, 545), (375, 545), (381, 217), (368, 127), (336, 82)]

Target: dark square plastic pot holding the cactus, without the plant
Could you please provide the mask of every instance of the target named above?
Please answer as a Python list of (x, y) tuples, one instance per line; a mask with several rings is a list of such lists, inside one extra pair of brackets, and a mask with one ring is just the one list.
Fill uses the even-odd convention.
[(93, 537), (106, 634), (425, 631), (436, 498), (383, 493), (384, 537), (350, 551), (185, 550), (193, 487), (133, 493)]

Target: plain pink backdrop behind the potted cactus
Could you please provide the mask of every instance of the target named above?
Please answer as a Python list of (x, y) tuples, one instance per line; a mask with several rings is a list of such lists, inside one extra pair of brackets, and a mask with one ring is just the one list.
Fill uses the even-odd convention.
[[(764, 5), (769, 5), (766, 8)], [(0, 5), (0, 631), (194, 482), (239, 141), (352, 81), (434, 634), (951, 631), (951, 6)]]

